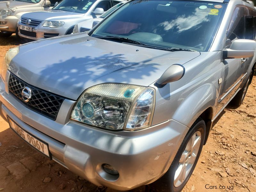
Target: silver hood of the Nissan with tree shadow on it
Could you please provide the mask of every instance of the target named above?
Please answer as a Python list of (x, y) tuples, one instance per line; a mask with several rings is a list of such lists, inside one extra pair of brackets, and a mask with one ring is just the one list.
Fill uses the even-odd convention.
[(102, 83), (149, 86), (200, 52), (168, 52), (75, 34), (21, 45), (10, 71), (28, 84), (77, 100)]

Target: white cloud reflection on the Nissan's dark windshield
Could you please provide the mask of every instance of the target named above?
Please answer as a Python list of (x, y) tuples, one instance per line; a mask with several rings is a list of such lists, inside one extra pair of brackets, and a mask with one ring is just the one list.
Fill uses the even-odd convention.
[(186, 15), (181, 15), (175, 20), (164, 21), (160, 23), (159, 26), (163, 26), (166, 31), (176, 27), (178, 29), (178, 33), (193, 27), (197, 29), (200, 28), (200, 26), (198, 26), (200, 23), (209, 21), (207, 18), (209, 12), (209, 8), (204, 10), (196, 8), (196, 11), (187, 17)]

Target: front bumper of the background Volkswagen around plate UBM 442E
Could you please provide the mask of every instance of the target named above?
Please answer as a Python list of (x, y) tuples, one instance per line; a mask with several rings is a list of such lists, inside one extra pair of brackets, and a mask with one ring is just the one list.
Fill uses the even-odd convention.
[(20, 30), (20, 25), (24, 25), (24, 24), (21, 24), (19, 22), (18, 23), (19, 36), (27, 39), (41, 40), (41, 39), (46, 39), (50, 37), (66, 35), (69, 29), (65, 27), (58, 27), (58, 28), (43, 27), (43, 23), (44, 21), (36, 27), (29, 26), (29, 27), (32, 27), (32, 32), (27, 32), (27, 31)]

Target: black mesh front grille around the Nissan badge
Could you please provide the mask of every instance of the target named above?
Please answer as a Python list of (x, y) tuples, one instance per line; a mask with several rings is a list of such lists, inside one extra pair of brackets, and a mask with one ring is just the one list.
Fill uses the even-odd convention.
[[(9, 92), (12, 93), (13, 96), (23, 105), (52, 120), (56, 119), (60, 106), (65, 99), (64, 97), (27, 84), (12, 73), (10, 74), (8, 85)], [(31, 89), (32, 96), (28, 102), (25, 102), (21, 95), (21, 92), (25, 87), (29, 87)]]

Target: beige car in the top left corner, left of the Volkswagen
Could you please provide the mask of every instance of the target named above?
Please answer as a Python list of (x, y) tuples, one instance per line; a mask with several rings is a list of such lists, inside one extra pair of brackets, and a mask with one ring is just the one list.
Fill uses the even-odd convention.
[(13, 0), (0, 2), (0, 36), (18, 35), (17, 23), (24, 13), (51, 9), (58, 0)]

